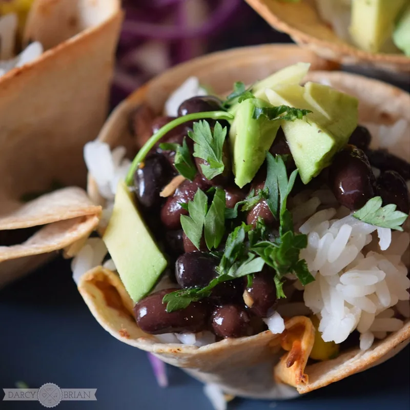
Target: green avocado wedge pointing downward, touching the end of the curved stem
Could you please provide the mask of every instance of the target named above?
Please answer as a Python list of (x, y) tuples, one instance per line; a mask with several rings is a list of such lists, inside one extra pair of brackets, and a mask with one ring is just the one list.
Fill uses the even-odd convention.
[(255, 107), (270, 107), (270, 104), (259, 98), (242, 101), (235, 108), (235, 118), (229, 130), (232, 170), (239, 188), (252, 181), (280, 127), (280, 121), (270, 121), (264, 116), (254, 119)]

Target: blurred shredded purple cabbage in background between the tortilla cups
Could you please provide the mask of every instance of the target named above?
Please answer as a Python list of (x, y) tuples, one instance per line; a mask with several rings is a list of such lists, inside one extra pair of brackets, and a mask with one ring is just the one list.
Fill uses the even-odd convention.
[(289, 41), (242, 0), (124, 0), (112, 106), (167, 68), (231, 47)]

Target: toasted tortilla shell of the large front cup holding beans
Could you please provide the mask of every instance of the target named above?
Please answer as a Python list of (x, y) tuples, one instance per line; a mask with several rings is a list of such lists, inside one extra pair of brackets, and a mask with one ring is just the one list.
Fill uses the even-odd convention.
[[(197, 76), (201, 84), (211, 86), (215, 92), (224, 93), (236, 80), (250, 84), (296, 61), (310, 61), (313, 70), (326, 68), (326, 63), (295, 46), (243, 48), (193, 60), (137, 90), (112, 113), (98, 139), (111, 148), (126, 146), (132, 155), (135, 141), (128, 131), (129, 114), (141, 104), (147, 104), (159, 114), (170, 92), (190, 75)], [(358, 96), (363, 121), (371, 118), (382, 124), (404, 118), (410, 122), (410, 97), (395, 87), (341, 72), (312, 71), (307, 79)], [(90, 176), (88, 192), (93, 201), (104, 205)], [(202, 382), (217, 383), (224, 392), (235, 396), (277, 399), (308, 393), (381, 363), (398, 353), (410, 338), (407, 322), (401, 330), (365, 352), (357, 347), (342, 352), (334, 360), (311, 365), (306, 363), (313, 346), (314, 329), (303, 316), (286, 319), (286, 330), (281, 335), (265, 331), (202, 347), (167, 344), (138, 328), (132, 314), (133, 302), (117, 274), (102, 267), (94, 268), (79, 279), (78, 290), (93, 316), (115, 338), (183, 368)]]

